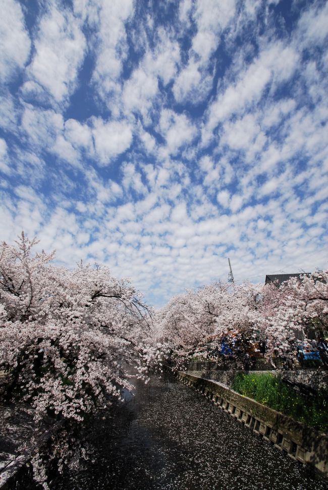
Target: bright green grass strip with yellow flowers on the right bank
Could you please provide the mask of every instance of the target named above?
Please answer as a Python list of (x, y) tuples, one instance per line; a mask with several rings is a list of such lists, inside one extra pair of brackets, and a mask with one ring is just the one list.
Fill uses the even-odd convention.
[(273, 374), (243, 374), (235, 376), (232, 389), (278, 412), (289, 415), (317, 430), (328, 431), (328, 392), (307, 398), (287, 386)]

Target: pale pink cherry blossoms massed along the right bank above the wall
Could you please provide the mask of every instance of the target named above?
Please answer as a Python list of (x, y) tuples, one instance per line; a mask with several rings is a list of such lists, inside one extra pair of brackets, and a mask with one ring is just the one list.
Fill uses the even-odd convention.
[(162, 340), (183, 361), (195, 353), (217, 358), (223, 342), (241, 360), (265, 343), (270, 358), (294, 349), (302, 332), (326, 332), (327, 280), (321, 271), (280, 287), (214, 283), (172, 298), (156, 321)]

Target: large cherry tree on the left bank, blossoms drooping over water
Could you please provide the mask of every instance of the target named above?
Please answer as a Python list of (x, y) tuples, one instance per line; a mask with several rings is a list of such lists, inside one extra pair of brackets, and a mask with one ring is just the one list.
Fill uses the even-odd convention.
[[(34, 253), (37, 243), (22, 233), (15, 246), (0, 246), (6, 397), (31, 404), (37, 420), (52, 415), (72, 431), (120, 399), (122, 388), (131, 390), (131, 374), (146, 379), (149, 366), (160, 363), (160, 346), (152, 310), (129, 280), (105, 266), (56, 267), (54, 253)], [(42, 467), (39, 460), (34, 466)], [(44, 470), (37, 473), (43, 481)]]

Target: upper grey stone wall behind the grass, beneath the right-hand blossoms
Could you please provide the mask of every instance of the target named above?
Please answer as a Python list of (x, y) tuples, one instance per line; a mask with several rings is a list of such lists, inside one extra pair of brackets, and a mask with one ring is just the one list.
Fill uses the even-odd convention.
[(241, 373), (250, 372), (250, 373), (257, 373), (257, 374), (263, 374), (264, 372), (269, 372), (271, 374), (274, 374), (275, 376), (281, 376), (283, 379), (288, 379), (291, 382), (302, 383), (303, 385), (313, 388), (314, 390), (328, 389), (328, 370), (326, 369), (321, 369), (321, 368), (296, 369), (296, 370), (276, 369), (276, 370), (266, 370), (266, 371), (264, 370), (242, 371), (236, 369), (228, 369), (228, 370), (215, 369), (215, 367), (212, 367), (211, 364), (212, 363), (197, 363), (196, 365), (194, 363), (189, 364), (187, 366), (186, 372), (206, 379), (213, 379), (214, 381), (218, 381), (228, 386), (232, 386), (234, 377), (238, 372)]

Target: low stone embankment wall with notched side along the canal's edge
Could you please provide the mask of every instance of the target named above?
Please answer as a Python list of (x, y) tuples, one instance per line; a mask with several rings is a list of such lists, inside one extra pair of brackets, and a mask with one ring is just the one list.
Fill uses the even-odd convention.
[(328, 435), (244, 397), (212, 379), (179, 372), (182, 383), (196, 389), (277, 448), (328, 477)]

